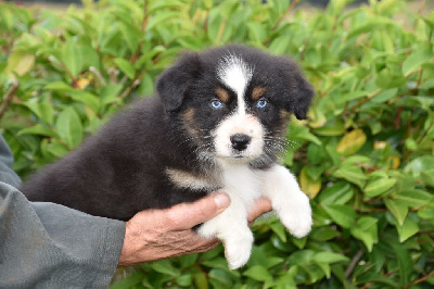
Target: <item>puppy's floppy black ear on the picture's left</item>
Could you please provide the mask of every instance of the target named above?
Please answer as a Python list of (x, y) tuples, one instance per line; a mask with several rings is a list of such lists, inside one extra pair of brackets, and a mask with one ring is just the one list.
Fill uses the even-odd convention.
[(178, 62), (165, 71), (156, 80), (158, 92), (166, 111), (177, 111), (189, 88), (200, 72), (200, 59), (195, 52), (183, 54)]

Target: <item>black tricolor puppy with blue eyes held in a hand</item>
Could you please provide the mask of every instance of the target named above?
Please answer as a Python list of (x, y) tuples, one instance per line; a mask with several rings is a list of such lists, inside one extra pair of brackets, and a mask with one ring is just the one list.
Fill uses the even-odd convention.
[(230, 206), (197, 233), (224, 242), (231, 268), (250, 257), (247, 211), (261, 196), (294, 236), (309, 233), (309, 200), (277, 163), (290, 115), (306, 118), (314, 96), (294, 62), (242, 46), (190, 52), (156, 90), (33, 176), (28, 199), (126, 221), (225, 191)]

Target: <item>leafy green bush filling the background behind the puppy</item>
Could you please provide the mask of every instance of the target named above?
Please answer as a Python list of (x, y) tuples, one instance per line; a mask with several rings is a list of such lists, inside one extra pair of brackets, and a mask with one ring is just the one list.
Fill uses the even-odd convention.
[(242, 269), (229, 271), (219, 247), (142, 264), (113, 288), (434, 285), (434, 13), (399, 0), (333, 0), (307, 13), (286, 0), (142, 2), (85, 1), (65, 13), (0, 3), (0, 125), (14, 168), (26, 176), (77, 147), (151, 95), (182, 50), (246, 43), (292, 55), (316, 88), (284, 156), (315, 226), (295, 239), (263, 219)]

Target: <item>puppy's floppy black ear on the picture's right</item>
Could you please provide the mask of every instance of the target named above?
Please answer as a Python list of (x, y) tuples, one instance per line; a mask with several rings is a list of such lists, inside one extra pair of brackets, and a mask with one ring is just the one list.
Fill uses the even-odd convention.
[(298, 65), (286, 58), (279, 58), (280, 75), (288, 85), (288, 111), (295, 114), (297, 120), (306, 120), (310, 102), (315, 96), (312, 86), (303, 76)]

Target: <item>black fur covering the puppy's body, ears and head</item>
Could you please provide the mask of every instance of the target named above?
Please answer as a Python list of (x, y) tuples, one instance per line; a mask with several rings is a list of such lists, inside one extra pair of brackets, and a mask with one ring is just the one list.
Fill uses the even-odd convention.
[[(170, 183), (165, 169), (218, 178), (213, 160), (197, 155), (203, 150), (213, 152), (204, 146), (206, 137), (237, 105), (233, 91), (219, 83), (216, 72), (228, 51), (255, 68), (247, 95), (254, 87), (266, 87), (265, 97), (272, 105), (261, 112), (254, 105), (250, 108), (269, 134), (276, 134), (276, 127), (285, 127), (288, 120), (282, 120), (281, 110), (306, 118), (314, 90), (288, 58), (241, 46), (191, 52), (162, 74), (157, 96), (139, 100), (115, 115), (77, 150), (31, 176), (21, 190), (31, 201), (55, 202), (124, 221), (141, 210), (169, 208), (204, 197), (209, 190), (179, 188)], [(216, 87), (227, 89), (231, 96), (225, 110), (209, 109)], [(277, 150), (253, 160), (251, 165), (268, 167)]]

